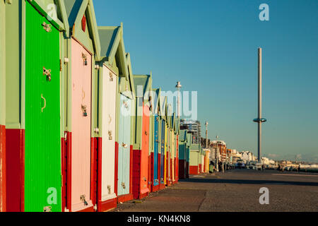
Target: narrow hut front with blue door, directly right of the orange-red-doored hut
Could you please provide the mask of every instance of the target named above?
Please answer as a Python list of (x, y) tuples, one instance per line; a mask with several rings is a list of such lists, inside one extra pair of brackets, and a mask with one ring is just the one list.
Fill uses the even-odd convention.
[(151, 149), (151, 192), (158, 191), (160, 187), (160, 154), (161, 154), (161, 120), (160, 120), (160, 91), (153, 89), (153, 148)]

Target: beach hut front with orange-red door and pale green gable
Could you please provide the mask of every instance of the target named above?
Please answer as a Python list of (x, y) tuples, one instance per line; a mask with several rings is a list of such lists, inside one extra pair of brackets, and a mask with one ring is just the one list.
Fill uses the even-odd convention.
[(133, 194), (144, 198), (150, 192), (149, 174), (149, 124), (151, 109), (151, 75), (134, 75), (136, 108), (134, 118)]

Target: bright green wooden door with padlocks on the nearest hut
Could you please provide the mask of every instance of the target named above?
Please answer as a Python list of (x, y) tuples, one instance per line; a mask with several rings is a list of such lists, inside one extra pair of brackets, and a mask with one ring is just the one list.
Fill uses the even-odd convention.
[(61, 211), (59, 31), (26, 1), (25, 211)]

